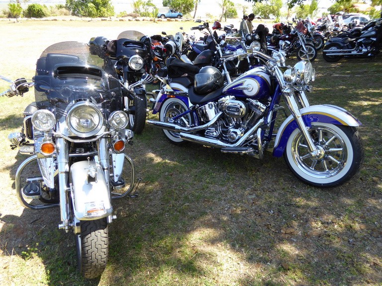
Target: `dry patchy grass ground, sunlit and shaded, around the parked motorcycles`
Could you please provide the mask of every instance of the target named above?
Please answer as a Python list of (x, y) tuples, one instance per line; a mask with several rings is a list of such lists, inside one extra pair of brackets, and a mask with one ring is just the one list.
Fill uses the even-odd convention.
[[(158, 27), (153, 33), (178, 28)], [(0, 74), (32, 76), (50, 44), (111, 39), (131, 28), (107, 21), (0, 22), (7, 39)], [(57, 210), (24, 210), (12, 190), (25, 157), (9, 149), (6, 136), (18, 131), (33, 93), (0, 98), (0, 285), (381, 285), (381, 56), (328, 64), (319, 55), (314, 67), (312, 102), (345, 107), (364, 124), (358, 175), (321, 190), (296, 180), (269, 153), (260, 161), (173, 146), (147, 126), (127, 150), (142, 178), (139, 196), (114, 202), (109, 262), (91, 282), (76, 273), (73, 235), (57, 229)]]

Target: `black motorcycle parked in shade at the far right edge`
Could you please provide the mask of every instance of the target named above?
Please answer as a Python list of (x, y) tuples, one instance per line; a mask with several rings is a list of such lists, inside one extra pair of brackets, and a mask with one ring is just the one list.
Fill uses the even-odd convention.
[[(357, 30), (356, 30), (357, 31)], [(382, 18), (367, 25), (358, 37), (334, 37), (326, 42), (322, 57), (333, 63), (341, 58), (375, 57), (382, 50)]]

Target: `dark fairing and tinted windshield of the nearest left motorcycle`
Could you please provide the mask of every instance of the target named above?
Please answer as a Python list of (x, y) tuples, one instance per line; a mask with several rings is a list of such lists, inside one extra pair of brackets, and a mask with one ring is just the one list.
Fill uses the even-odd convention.
[(37, 60), (36, 103), (39, 108), (47, 108), (86, 100), (115, 110), (122, 102), (116, 78), (110, 60), (91, 55), (87, 44), (57, 43), (48, 47)]

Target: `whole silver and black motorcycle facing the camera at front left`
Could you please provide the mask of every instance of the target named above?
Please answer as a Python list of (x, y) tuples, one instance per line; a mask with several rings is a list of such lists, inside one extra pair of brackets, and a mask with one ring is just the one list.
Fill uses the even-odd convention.
[[(8, 136), (12, 148), (29, 155), (15, 174), (17, 198), (31, 210), (59, 207), (58, 227), (75, 234), (79, 271), (96, 278), (105, 269), (108, 224), (116, 218), (111, 202), (133, 196), (137, 188), (134, 162), (125, 154), (134, 134), (126, 129), (113, 63), (92, 55), (87, 44), (62, 42), (41, 54), (33, 80), (7, 81), (10, 88), (1, 95), (35, 89), (22, 132)], [(133, 95), (133, 86), (126, 92)], [(37, 176), (30, 172), (36, 163)]]

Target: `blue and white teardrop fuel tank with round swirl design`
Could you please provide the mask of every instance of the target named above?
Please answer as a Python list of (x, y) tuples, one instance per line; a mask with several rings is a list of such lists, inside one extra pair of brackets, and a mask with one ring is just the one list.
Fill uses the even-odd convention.
[(246, 71), (223, 89), (226, 95), (251, 99), (267, 99), (272, 91), (271, 77), (265, 67)]

